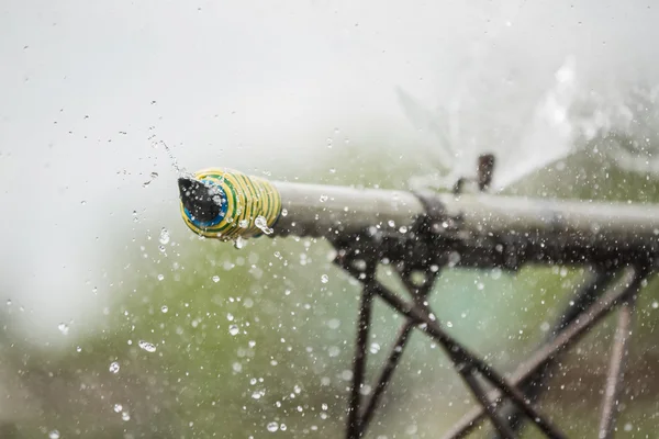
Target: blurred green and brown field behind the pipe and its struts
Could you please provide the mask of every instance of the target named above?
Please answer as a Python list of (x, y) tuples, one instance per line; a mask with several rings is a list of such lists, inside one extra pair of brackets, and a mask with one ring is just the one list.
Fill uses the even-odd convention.
[[(279, 169), (270, 178), (405, 188), (409, 177), (431, 171), (389, 146), (375, 149), (338, 149), (302, 172)], [(510, 192), (659, 202), (649, 176), (623, 172), (589, 149)], [(108, 255), (114, 296), (92, 336), (57, 350), (30, 347), (12, 329), (18, 311), (8, 307), (0, 364), (10, 397), (0, 436), (340, 437), (359, 290), (332, 264), (331, 246), (260, 238), (235, 249), (192, 236), (178, 212), (161, 217), (175, 224), (166, 238), (158, 224), (139, 224), (148, 236), (118, 234)], [(395, 284), (387, 267), (380, 274)], [(583, 270), (562, 267), (449, 270), (432, 304), (456, 337), (510, 371), (582, 278)], [(652, 281), (638, 303), (616, 437), (654, 437), (659, 425), (657, 300)], [(380, 303), (376, 315), (371, 381), (402, 323)], [(593, 437), (613, 328), (608, 318), (570, 353), (543, 403), (570, 437)], [(368, 437), (434, 438), (472, 405), (444, 354), (415, 334)], [(539, 436), (528, 429), (527, 437)]]

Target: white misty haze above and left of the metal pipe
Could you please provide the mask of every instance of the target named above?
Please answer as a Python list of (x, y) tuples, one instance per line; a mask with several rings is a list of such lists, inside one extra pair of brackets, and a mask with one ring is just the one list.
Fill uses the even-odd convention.
[[(25, 327), (42, 340), (60, 339), (60, 322), (74, 320), (70, 336), (91, 325), (120, 291), (105, 275), (116, 233), (147, 233), (133, 211), (157, 229), (178, 224), (176, 173), (155, 140), (188, 169), (286, 167), (292, 176), (322, 167), (314, 158), (327, 154), (335, 128), (364, 147), (369, 131), (387, 127), (407, 159), (448, 172), (498, 153), (499, 184), (601, 130), (656, 146), (658, 9), (619, 0), (5, 0), (0, 292), (24, 306)], [(647, 105), (629, 102), (634, 87)], [(649, 160), (621, 162), (652, 170), (641, 153)], [(167, 209), (170, 216), (154, 216)]]

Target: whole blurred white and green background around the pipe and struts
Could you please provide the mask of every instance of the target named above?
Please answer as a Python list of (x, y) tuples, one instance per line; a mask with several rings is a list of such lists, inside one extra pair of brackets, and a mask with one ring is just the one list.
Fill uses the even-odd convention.
[[(509, 193), (658, 202), (658, 19), (647, 0), (1, 1), (0, 437), (340, 437), (358, 288), (323, 240), (199, 240), (176, 165), (409, 189), (492, 151)], [(513, 370), (583, 274), (456, 270), (433, 304)], [(646, 290), (618, 437), (659, 426)], [(371, 379), (399, 320), (377, 308)], [(612, 334), (544, 402), (570, 437), (596, 426)], [(410, 353), (369, 437), (436, 437), (472, 406), (439, 349), (417, 334)]]

